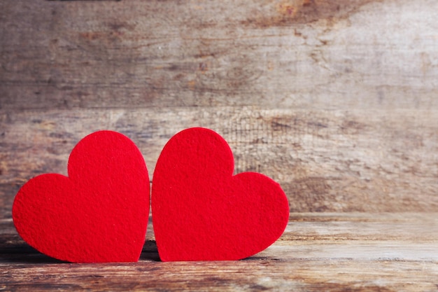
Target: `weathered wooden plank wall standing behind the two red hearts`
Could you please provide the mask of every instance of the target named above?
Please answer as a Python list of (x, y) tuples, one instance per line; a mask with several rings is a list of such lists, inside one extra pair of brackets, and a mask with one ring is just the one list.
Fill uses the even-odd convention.
[(101, 129), (152, 174), (171, 135), (203, 126), (292, 211), (437, 211), (436, 6), (1, 1), (0, 183), (65, 174)]

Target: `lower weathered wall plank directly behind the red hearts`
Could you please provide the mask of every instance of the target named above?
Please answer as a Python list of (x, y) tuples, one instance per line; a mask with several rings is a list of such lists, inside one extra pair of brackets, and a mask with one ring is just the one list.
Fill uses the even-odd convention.
[(437, 211), (437, 125), (435, 110), (3, 109), (0, 183), (66, 174), (73, 146), (103, 129), (139, 146), (152, 179), (168, 139), (202, 126), (227, 139), (236, 173), (262, 172), (280, 182), (292, 211)]

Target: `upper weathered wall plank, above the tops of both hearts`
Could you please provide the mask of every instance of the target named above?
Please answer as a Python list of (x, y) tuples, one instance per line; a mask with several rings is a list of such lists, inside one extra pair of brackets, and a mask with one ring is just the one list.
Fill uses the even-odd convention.
[(437, 109), (436, 6), (5, 0), (0, 108)]

